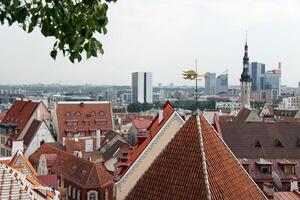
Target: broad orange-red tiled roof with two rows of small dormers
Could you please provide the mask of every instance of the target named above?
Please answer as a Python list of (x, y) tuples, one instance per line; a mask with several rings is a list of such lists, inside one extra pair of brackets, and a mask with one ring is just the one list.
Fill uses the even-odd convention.
[[(74, 132), (80, 132), (82, 129), (113, 129), (112, 110), (109, 102), (58, 102), (57, 121), (59, 129), (59, 142), (62, 143), (62, 137), (66, 137), (66, 131), (72, 129)], [(78, 121), (77, 125), (68, 126), (67, 122)], [(90, 124), (86, 125), (85, 122)]]

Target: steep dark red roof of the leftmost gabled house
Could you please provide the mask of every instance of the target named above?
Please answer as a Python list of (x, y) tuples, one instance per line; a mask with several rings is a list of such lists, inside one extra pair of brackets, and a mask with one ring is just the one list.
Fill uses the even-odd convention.
[(16, 124), (20, 133), (39, 104), (40, 102), (31, 100), (16, 100), (6, 113), (2, 122)]

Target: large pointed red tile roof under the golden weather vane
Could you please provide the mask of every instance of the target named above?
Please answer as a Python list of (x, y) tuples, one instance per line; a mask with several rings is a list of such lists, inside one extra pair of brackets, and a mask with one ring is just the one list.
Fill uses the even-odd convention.
[(126, 199), (266, 199), (204, 117), (191, 117)]

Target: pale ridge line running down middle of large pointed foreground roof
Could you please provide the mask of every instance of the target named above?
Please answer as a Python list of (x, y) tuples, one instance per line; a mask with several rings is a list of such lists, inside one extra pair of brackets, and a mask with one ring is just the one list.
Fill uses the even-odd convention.
[(201, 155), (201, 158), (202, 158), (201, 159), (202, 172), (203, 172), (205, 189), (207, 191), (206, 198), (208, 200), (211, 200), (211, 191), (210, 191), (210, 186), (209, 186), (208, 171), (207, 171), (206, 158), (205, 158), (205, 152), (204, 152), (203, 134), (202, 134), (200, 116), (199, 116), (198, 111), (197, 111), (197, 114), (196, 114), (196, 123), (197, 123), (198, 132), (199, 132), (200, 155)]

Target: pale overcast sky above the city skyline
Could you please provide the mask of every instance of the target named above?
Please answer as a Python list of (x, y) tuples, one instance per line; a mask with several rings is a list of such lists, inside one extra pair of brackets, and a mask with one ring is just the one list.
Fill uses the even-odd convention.
[[(49, 53), (54, 39), (18, 25), (0, 27), (0, 84), (130, 85), (131, 73), (153, 83), (192, 85), (182, 71), (229, 72), (239, 84), (245, 32), (250, 62), (282, 62), (282, 84), (300, 82), (299, 0), (118, 0), (110, 3), (104, 55), (72, 64)], [(203, 82), (203, 81), (202, 81)], [(202, 83), (203, 84), (203, 83)]]

